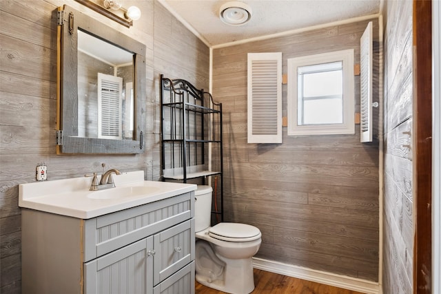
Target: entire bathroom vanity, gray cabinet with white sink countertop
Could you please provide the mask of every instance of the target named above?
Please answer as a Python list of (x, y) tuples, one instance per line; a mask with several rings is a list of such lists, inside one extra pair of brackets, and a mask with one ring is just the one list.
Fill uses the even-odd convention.
[(20, 185), (23, 293), (194, 293), (196, 185), (90, 180)]

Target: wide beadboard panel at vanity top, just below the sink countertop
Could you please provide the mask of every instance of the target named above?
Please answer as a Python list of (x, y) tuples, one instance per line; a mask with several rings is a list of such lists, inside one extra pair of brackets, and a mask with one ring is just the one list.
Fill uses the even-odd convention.
[(194, 205), (192, 193), (84, 220), (83, 262), (189, 220)]

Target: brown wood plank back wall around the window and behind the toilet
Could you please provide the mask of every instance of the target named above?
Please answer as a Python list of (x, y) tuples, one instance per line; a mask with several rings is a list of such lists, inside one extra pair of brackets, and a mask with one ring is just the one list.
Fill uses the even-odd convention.
[[(224, 109), (225, 220), (262, 231), (258, 258), (378, 281), (378, 144), (360, 143), (359, 125), (356, 134), (340, 136), (288, 137), (283, 128), (282, 144), (247, 144), (247, 53), (283, 52), (283, 73), (289, 58), (351, 48), (359, 63), (367, 22), (214, 50), (212, 94)], [(360, 76), (355, 88), (358, 112)], [(286, 96), (283, 85), (284, 116)]]

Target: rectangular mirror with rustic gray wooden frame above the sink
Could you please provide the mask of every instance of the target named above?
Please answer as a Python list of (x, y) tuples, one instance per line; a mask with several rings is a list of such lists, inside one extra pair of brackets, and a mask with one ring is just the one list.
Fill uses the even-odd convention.
[(143, 152), (145, 45), (69, 6), (57, 27), (57, 154)]

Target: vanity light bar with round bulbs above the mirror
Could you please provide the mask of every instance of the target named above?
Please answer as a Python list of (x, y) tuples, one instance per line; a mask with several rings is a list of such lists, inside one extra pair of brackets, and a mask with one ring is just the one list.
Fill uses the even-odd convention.
[[(116, 21), (117, 23), (130, 28), (133, 25), (133, 21), (141, 18), (141, 10), (136, 6), (130, 6), (129, 8), (123, 8), (123, 5), (117, 0), (103, 0), (103, 6), (90, 1), (90, 0), (75, 0), (83, 4), (84, 6), (103, 14), (105, 17)], [(124, 18), (119, 17), (110, 10), (122, 10), (124, 12)]]

